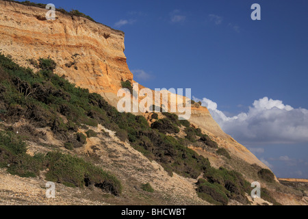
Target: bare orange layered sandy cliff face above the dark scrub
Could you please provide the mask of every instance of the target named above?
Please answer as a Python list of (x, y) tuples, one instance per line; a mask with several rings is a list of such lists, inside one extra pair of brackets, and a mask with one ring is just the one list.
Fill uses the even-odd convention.
[[(55, 21), (46, 21), (46, 12), (42, 8), (0, 1), (0, 52), (30, 68), (34, 66), (27, 60), (50, 57), (57, 63), (57, 75), (105, 96), (116, 106), (120, 82), (127, 79), (133, 82), (124, 54), (124, 33), (61, 12), (56, 12)], [(193, 107), (190, 122), (248, 164), (266, 167), (224, 133), (207, 108)]]

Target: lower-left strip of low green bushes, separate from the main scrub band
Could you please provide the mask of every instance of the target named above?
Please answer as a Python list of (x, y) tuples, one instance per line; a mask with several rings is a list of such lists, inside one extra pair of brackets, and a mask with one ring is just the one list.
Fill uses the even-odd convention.
[(114, 195), (121, 193), (121, 184), (114, 175), (105, 172), (84, 159), (50, 152), (31, 157), (20, 137), (10, 131), (0, 131), (0, 166), (12, 175), (37, 177), (40, 170), (48, 170), (47, 181), (81, 187), (94, 185)]

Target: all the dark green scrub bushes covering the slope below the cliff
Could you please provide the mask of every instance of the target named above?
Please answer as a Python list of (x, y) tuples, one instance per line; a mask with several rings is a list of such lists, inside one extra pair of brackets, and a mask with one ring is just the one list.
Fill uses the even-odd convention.
[[(197, 189), (201, 197), (211, 197), (216, 204), (222, 205), (230, 198), (248, 203), (244, 196), (247, 183), (240, 173), (212, 168), (208, 159), (183, 144), (198, 141), (217, 149), (218, 144), (201, 129), (192, 128), (188, 121), (181, 121), (177, 115), (168, 113), (150, 127), (143, 116), (120, 113), (101, 95), (77, 88), (55, 75), (52, 60), (40, 59), (39, 63), (40, 70), (33, 73), (0, 55), (1, 120), (16, 123), (24, 118), (33, 127), (50, 127), (55, 138), (66, 142), (64, 147), (68, 150), (86, 144), (87, 137), (97, 134), (87, 127), (101, 124), (114, 131), (120, 140), (128, 140), (134, 149), (161, 164), (170, 175), (176, 172), (194, 179), (204, 175), (207, 183), (200, 183)], [(185, 139), (170, 136), (179, 133), (183, 127), (187, 135)], [(87, 129), (87, 136), (79, 133), (79, 128)], [(120, 193), (120, 182), (115, 177), (83, 159), (57, 152), (31, 157), (25, 153), (27, 146), (22, 140), (10, 132), (1, 134), (0, 166), (10, 164), (8, 171), (12, 174), (34, 177), (39, 170), (48, 167), (47, 177), (51, 181), (69, 186), (94, 185), (113, 194)]]

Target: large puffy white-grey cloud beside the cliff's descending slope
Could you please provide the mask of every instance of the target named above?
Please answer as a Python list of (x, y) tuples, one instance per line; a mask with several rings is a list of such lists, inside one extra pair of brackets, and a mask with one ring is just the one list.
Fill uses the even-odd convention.
[(308, 142), (308, 110), (294, 109), (282, 101), (264, 97), (255, 101), (248, 112), (229, 117), (209, 99), (196, 99), (209, 109), (214, 120), (243, 144), (293, 144)]

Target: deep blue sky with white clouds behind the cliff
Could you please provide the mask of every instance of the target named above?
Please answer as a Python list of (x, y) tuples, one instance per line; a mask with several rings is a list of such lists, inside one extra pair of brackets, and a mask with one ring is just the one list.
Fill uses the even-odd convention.
[[(125, 31), (136, 81), (192, 88), (278, 177), (308, 178), (308, 1), (37, 2)], [(261, 21), (251, 20), (253, 3)]]

